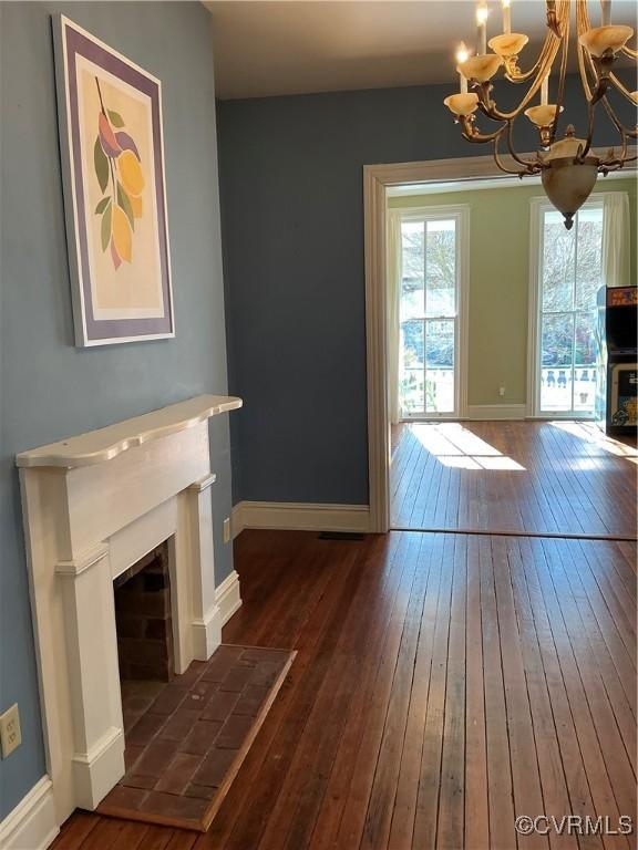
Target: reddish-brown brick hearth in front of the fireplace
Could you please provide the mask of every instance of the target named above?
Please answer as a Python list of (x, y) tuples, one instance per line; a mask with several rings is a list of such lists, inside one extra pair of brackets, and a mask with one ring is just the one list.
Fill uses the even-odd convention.
[(194, 661), (126, 732), (126, 774), (97, 812), (207, 829), (295, 654), (222, 644)]

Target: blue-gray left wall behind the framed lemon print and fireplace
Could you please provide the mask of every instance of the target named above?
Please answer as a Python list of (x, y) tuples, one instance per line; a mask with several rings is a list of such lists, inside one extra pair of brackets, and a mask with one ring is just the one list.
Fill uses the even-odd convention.
[[(176, 339), (73, 345), (51, 14), (64, 12), (162, 80)], [(13, 456), (164, 404), (226, 392), (209, 15), (197, 2), (0, 3), (0, 711), (20, 705), (22, 746), (0, 761), (0, 819), (44, 771)], [(213, 421), (218, 579), (231, 567), (227, 417)]]

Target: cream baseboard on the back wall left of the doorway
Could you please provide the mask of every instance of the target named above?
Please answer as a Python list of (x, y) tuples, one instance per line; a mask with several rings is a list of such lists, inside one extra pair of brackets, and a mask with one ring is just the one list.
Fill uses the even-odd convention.
[(233, 508), (233, 536), (237, 537), (245, 528), (367, 532), (370, 508), (368, 505), (240, 501)]

